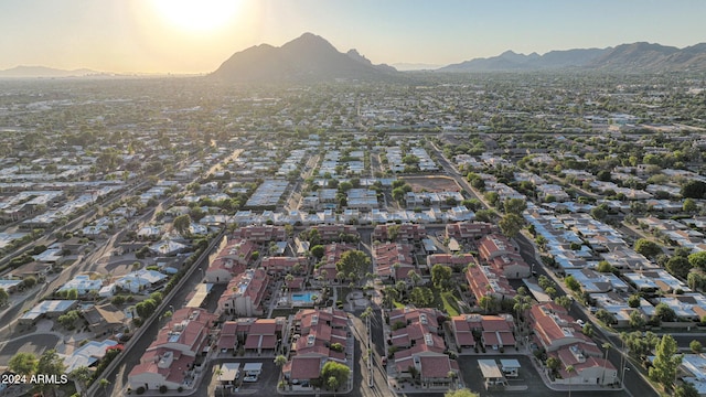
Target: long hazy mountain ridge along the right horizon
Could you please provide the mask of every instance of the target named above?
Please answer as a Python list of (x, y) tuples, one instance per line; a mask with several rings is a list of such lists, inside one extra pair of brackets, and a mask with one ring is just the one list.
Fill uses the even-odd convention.
[(552, 51), (544, 55), (506, 51), (439, 68), (439, 72), (503, 72), (547, 69), (603, 69), (623, 72), (706, 71), (706, 43), (685, 49), (650, 43), (607, 49)]

